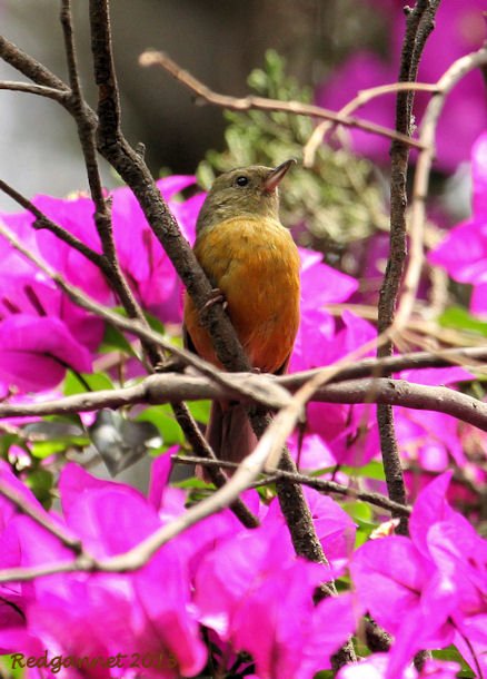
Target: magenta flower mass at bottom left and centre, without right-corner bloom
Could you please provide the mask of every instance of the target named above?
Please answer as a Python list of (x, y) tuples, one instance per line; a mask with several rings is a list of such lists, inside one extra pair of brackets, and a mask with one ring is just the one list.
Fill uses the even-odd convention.
[[(170, 455), (155, 462), (146, 499), (68, 464), (60, 481), (62, 516), (50, 518), (98, 560), (123, 553), (186, 511), (185, 493), (167, 486), (169, 465)], [(1, 480), (40, 516), (47, 515), (4, 463)], [(226, 669), (252, 662), (262, 678), (311, 678), (356, 627), (349, 594), (318, 606), (312, 599), (334, 564), (348, 559), (354, 523), (332, 500), (309, 492), (330, 560), (327, 568), (296, 558), (276, 501), (267, 508), (256, 494), (246, 500), (260, 515), (258, 529), (247, 531), (223, 511), (166, 544), (135, 573), (59, 573), (2, 585), (2, 651), (40, 657), (47, 648), (50, 657), (64, 658), (125, 655), (119, 670), (107, 668), (103, 675), (97, 673), (100, 667), (92, 673), (87, 669), (83, 676), (90, 677), (136, 677), (133, 652), (172, 659), (146, 668), (147, 676), (193, 677), (207, 662), (203, 627)], [(1, 501), (0, 513), (1, 568), (72, 561), (69, 549), (8, 501)], [(239, 656), (242, 651), (252, 659)], [(64, 669), (66, 677), (81, 676), (74, 667)]]

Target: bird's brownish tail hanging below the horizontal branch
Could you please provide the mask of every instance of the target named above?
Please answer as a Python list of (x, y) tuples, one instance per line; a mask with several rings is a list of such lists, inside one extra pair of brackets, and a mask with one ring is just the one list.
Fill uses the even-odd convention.
[(237, 463), (257, 445), (257, 436), (240, 403), (213, 401), (207, 439), (217, 457)]

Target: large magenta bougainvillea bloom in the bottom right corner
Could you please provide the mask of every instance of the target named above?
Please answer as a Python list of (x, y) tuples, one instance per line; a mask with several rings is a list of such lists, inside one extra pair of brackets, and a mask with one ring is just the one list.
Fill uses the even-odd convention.
[(468, 639), (477, 653), (487, 643), (487, 542), (445, 500), (450, 478), (418, 496), (410, 539), (367, 542), (351, 563), (360, 602), (395, 637), (386, 679), (400, 676), (421, 648)]

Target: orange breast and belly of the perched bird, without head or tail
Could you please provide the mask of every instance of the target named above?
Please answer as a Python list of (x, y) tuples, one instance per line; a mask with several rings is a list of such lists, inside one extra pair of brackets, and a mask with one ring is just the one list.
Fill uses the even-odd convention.
[[(277, 372), (292, 351), (299, 325), (299, 255), (289, 232), (274, 219), (228, 219), (202, 232), (195, 254), (225, 295), (251, 365)], [(219, 365), (188, 296), (185, 324), (197, 352)]]

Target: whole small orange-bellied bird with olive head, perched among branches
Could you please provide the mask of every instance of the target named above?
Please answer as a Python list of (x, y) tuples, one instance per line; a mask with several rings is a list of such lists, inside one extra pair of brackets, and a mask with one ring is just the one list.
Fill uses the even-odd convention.
[[(228, 315), (254, 368), (281, 374), (299, 325), (299, 255), (279, 222), (278, 185), (294, 160), (218, 177), (196, 226), (195, 255)], [(189, 348), (221, 367), (191, 298), (185, 298)], [(221, 460), (240, 462), (256, 444), (245, 407), (213, 402), (207, 429)]]

